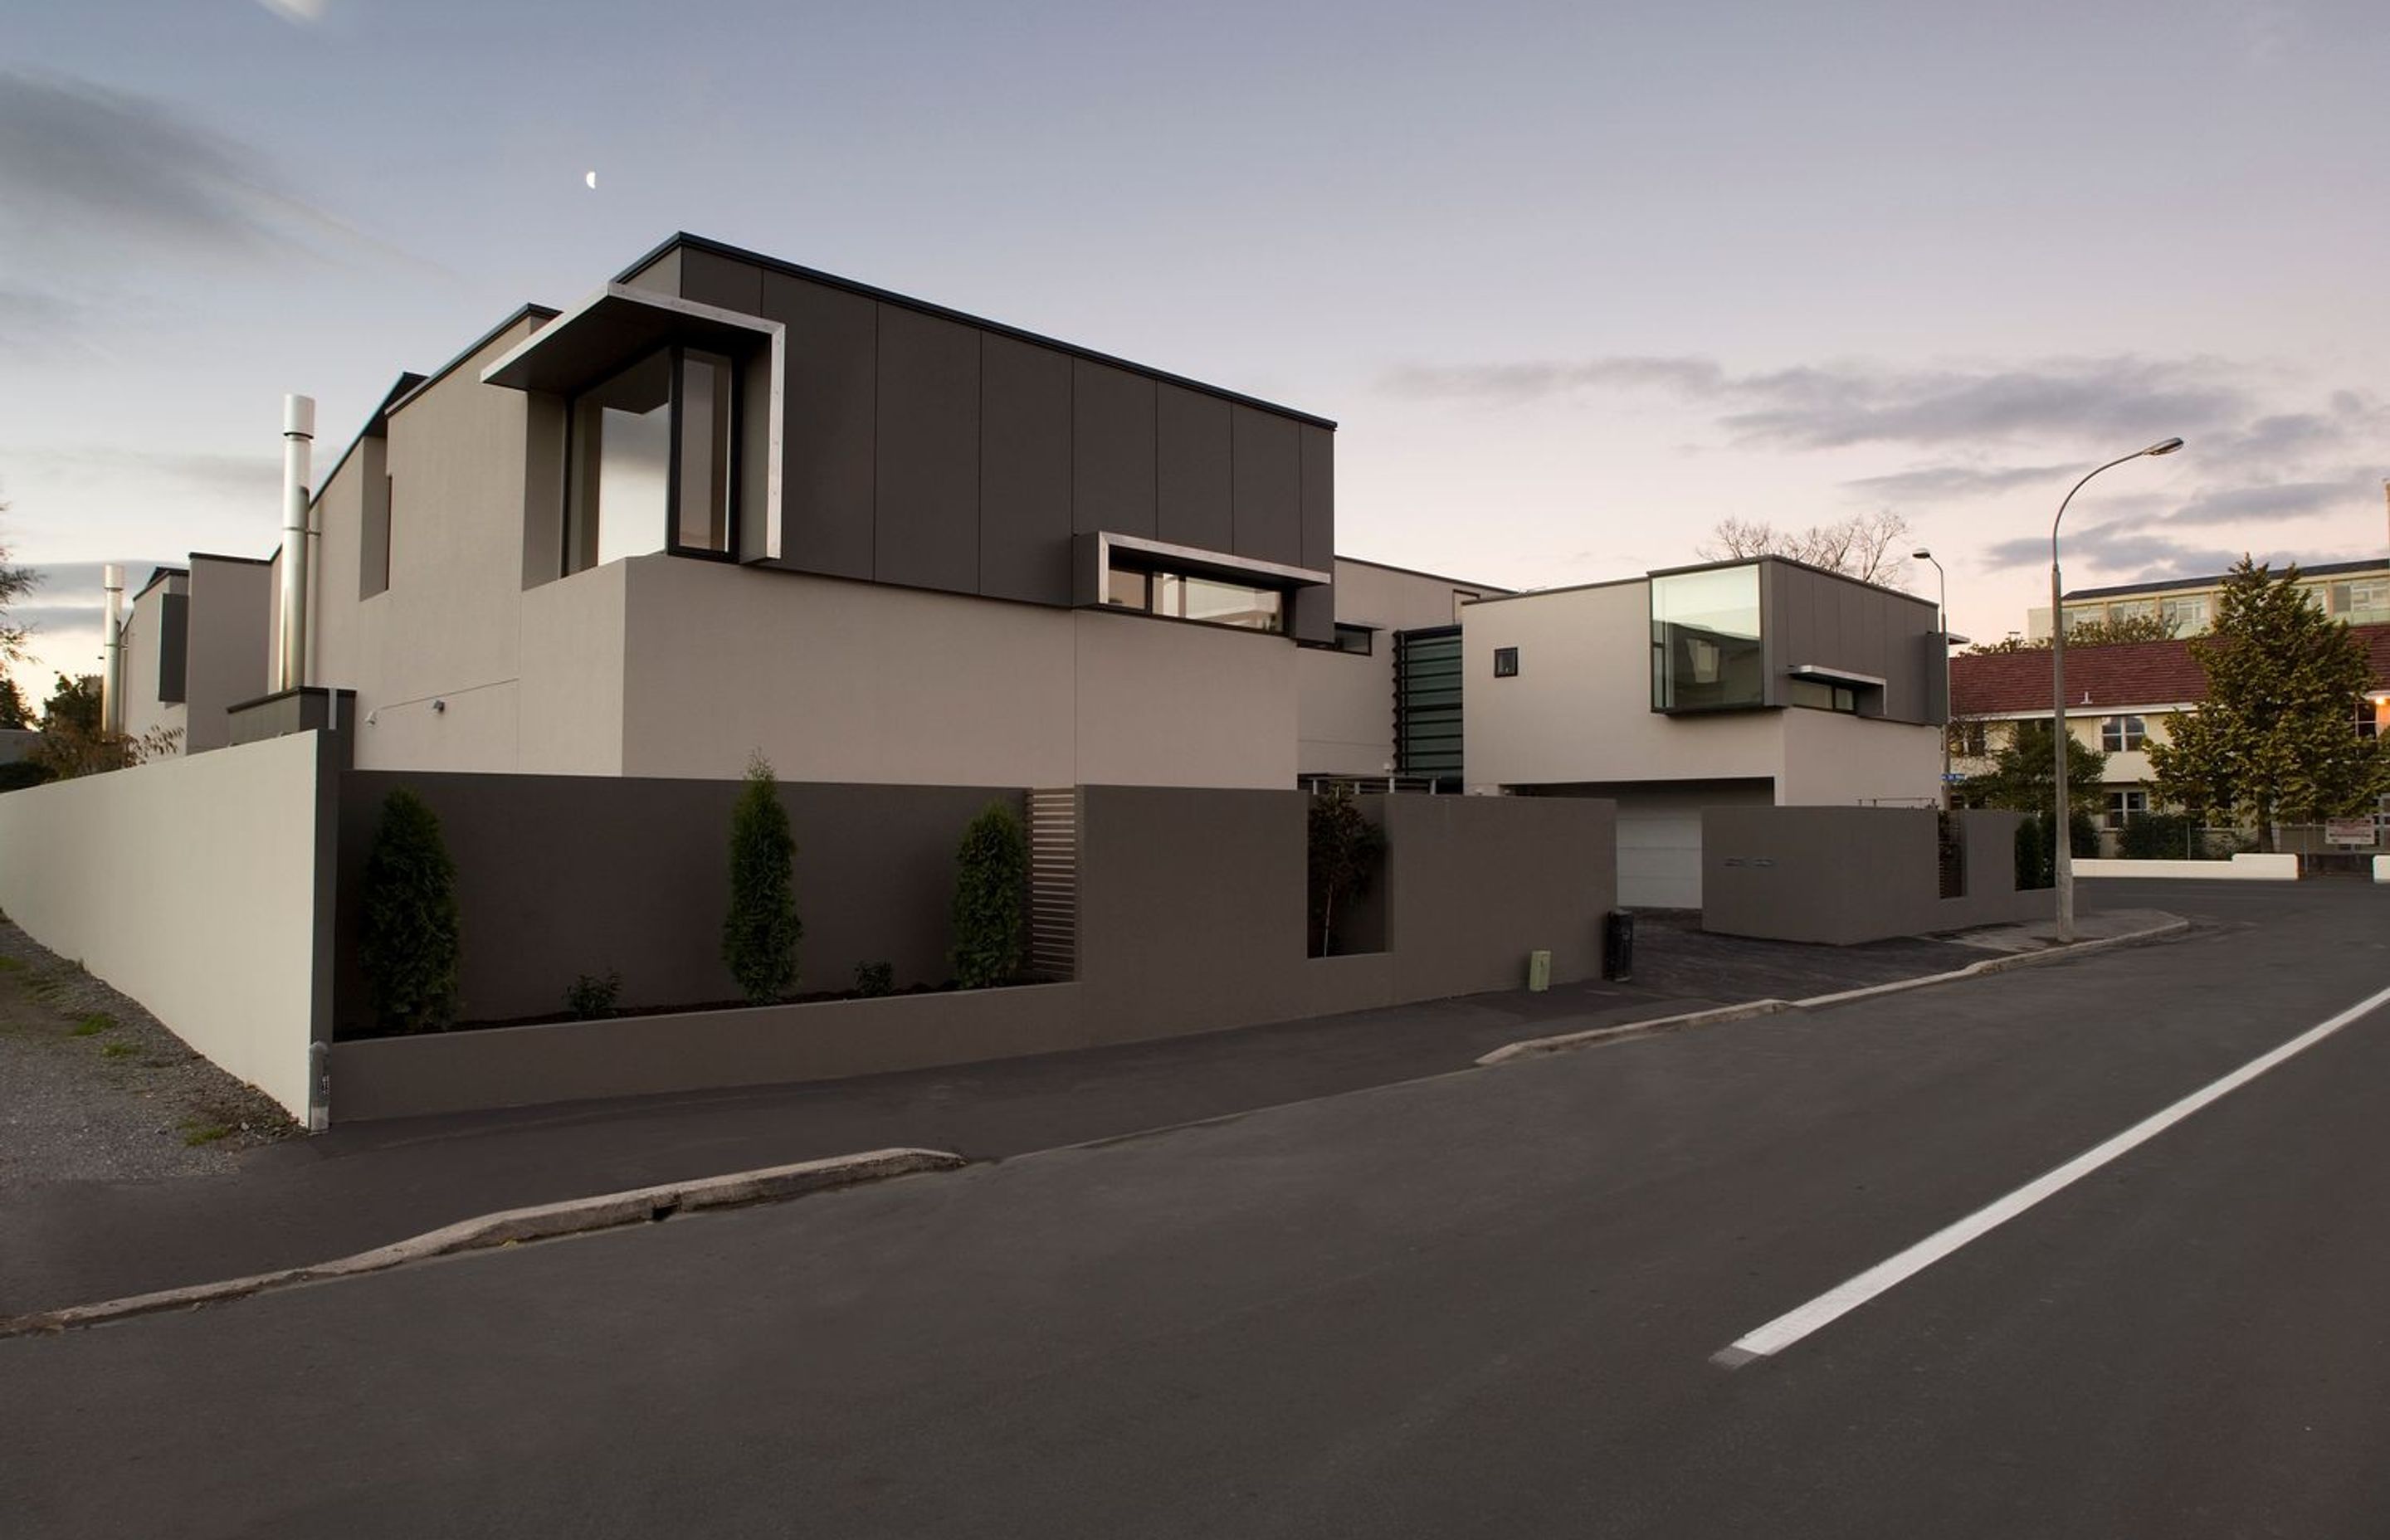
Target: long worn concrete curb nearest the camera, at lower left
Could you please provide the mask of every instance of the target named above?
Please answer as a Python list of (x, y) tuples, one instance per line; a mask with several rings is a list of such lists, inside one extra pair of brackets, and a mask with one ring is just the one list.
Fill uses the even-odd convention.
[(189, 1284), (160, 1289), (155, 1294), (131, 1294), (108, 1298), (96, 1306), (67, 1306), (62, 1310), (38, 1310), (33, 1315), (0, 1318), (0, 1337), (26, 1337), (33, 1332), (65, 1332), (127, 1315), (155, 1315), (160, 1310), (189, 1310), (229, 1298), (249, 1298), (268, 1289), (311, 1284), (335, 1277), (358, 1277), (385, 1272), (409, 1263), (423, 1263), (459, 1251), (485, 1251), (490, 1246), (514, 1246), (516, 1241), (550, 1241), (557, 1236), (588, 1234), (593, 1229), (617, 1229), (621, 1224), (648, 1224), (679, 1212), (703, 1208), (739, 1208), (748, 1203), (782, 1203), (860, 1181), (887, 1177), (911, 1177), (913, 1172), (951, 1172), (966, 1162), (946, 1150), (865, 1150), (860, 1155), (832, 1155), (829, 1160), (801, 1160), (796, 1165), (772, 1165), (753, 1172), (729, 1172), (727, 1177), (698, 1177), (693, 1181), (667, 1181), (641, 1186), (626, 1193), (598, 1193), (593, 1198), (566, 1198), (564, 1203), (540, 1203), (533, 1208), (507, 1208), (495, 1215), (459, 1220), (418, 1236), (358, 1251), (330, 1263), (308, 1267), (282, 1267), (251, 1277), (227, 1277), (213, 1284)]

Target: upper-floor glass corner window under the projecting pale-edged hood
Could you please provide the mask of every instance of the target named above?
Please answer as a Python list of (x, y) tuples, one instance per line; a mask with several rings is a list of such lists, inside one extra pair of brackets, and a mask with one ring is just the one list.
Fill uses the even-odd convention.
[(564, 572), (731, 555), (736, 387), (729, 359), (667, 347), (574, 397)]

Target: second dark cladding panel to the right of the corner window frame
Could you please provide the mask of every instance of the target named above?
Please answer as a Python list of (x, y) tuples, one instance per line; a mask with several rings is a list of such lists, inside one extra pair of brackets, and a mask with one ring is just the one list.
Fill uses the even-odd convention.
[(980, 588), (980, 332), (880, 306), (880, 517), (872, 576)]

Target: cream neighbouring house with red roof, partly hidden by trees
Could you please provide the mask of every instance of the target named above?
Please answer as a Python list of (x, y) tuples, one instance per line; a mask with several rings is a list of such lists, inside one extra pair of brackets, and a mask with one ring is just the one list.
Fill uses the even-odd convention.
[[(2373, 689), (2352, 703), (2349, 732), (2390, 732), (2390, 624), (2354, 627), (2373, 660)], [(2108, 756), (2101, 794), (2103, 849), (2134, 813), (2156, 811), (2149, 744), (2165, 741), (2165, 717), (2199, 710), (2208, 679), (2184, 638), (2067, 648), (2067, 732)], [(2051, 650), (1967, 653), (1950, 660), (1953, 770), (1981, 775), (2012, 722), (2048, 722)], [(2383, 808), (2390, 815), (2390, 806)], [(2376, 839), (2380, 844), (2380, 839)]]

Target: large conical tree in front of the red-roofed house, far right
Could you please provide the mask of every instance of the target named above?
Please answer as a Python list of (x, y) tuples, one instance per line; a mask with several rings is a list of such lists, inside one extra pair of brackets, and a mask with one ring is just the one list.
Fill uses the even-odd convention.
[(2273, 849), (2273, 825), (2366, 813), (2390, 792), (2390, 744), (2357, 737), (2357, 701), (2373, 684), (2366, 648), (2345, 622), (2318, 610), (2299, 586), (2247, 555), (2216, 605), (2216, 627), (2192, 658), (2208, 698), (2165, 720), (2165, 744), (2149, 746), (2158, 796), (2196, 818), (2256, 825)]

